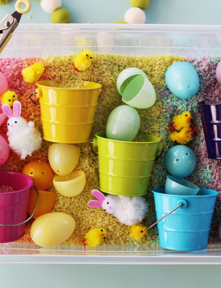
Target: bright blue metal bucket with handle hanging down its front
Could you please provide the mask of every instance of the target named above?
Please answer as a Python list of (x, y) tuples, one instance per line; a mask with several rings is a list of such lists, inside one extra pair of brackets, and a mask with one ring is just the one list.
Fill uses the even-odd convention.
[(180, 196), (165, 194), (164, 187), (152, 192), (157, 220), (184, 204), (158, 222), (159, 245), (178, 251), (206, 249), (218, 192), (202, 188), (200, 195)]

